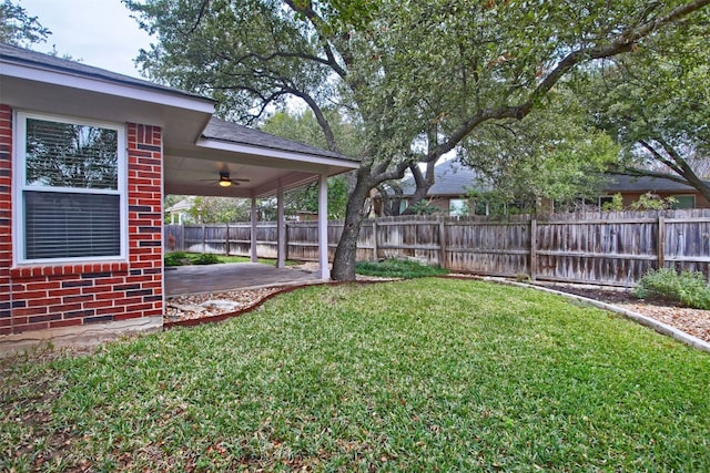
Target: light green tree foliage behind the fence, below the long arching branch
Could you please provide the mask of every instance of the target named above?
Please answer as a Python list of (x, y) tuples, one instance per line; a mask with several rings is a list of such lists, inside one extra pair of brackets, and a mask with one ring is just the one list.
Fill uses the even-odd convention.
[(537, 213), (544, 199), (570, 206), (599, 195), (619, 146), (589, 124), (571, 90), (561, 92), (525, 119), (485, 123), (462, 142), (459, 160), (477, 169), (488, 197)]

